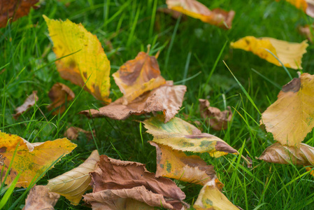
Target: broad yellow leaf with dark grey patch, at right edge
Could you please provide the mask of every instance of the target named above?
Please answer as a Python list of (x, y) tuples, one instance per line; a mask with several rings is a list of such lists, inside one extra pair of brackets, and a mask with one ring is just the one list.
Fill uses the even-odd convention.
[(262, 113), (261, 124), (280, 144), (299, 146), (314, 127), (314, 76), (302, 73), (283, 86), (276, 102)]

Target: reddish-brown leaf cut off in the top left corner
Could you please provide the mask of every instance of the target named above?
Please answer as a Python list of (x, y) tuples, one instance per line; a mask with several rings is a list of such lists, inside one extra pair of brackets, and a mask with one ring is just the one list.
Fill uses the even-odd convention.
[(6, 27), (8, 20), (15, 21), (28, 15), (29, 10), (38, 3), (39, 0), (5, 0), (0, 3), (0, 28)]

